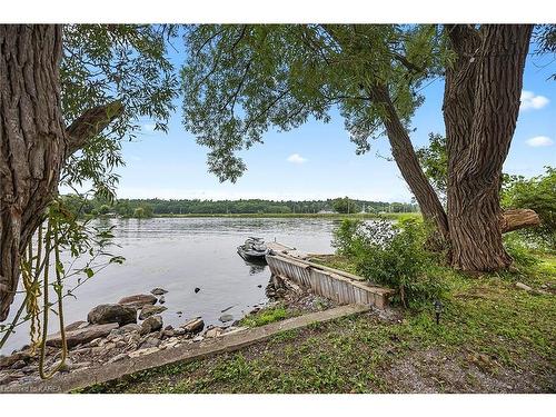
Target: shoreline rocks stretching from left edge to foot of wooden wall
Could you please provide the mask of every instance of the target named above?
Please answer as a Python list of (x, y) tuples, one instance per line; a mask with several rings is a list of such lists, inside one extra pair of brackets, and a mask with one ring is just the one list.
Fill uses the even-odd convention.
[[(277, 280), (274, 284), (277, 284), (277, 287), (272, 286), (275, 291), (286, 287), (286, 297), (280, 301), (269, 301), (251, 306), (251, 312), (272, 308), (281, 304), (287, 308), (300, 308), (307, 311), (321, 310), (334, 305), (331, 301), (325, 302), (324, 299), (317, 296), (300, 295), (295, 289), (289, 288), (287, 282), (284, 282), (284, 287), (281, 286), (282, 282)], [(156, 301), (152, 304), (152, 299), (157, 299), (157, 297), (149, 295), (129, 296), (120, 300), (129, 302), (117, 304), (118, 307), (116, 309), (126, 310), (129, 314), (128, 319), (131, 320), (132, 318), (131, 322), (126, 322), (118, 315), (113, 315), (111, 319), (115, 319), (115, 322), (89, 324), (88, 321), (75, 321), (66, 326), (69, 360), (64, 371), (71, 373), (76, 369), (83, 369), (89, 364), (92, 367), (98, 367), (107, 363), (153, 354), (211, 338), (226, 337), (227, 335), (245, 330), (244, 327), (237, 327), (238, 321), (234, 321), (234, 325), (228, 327), (227, 325), (221, 325), (206, 328), (205, 321), (200, 317), (190, 318), (183, 325), (176, 328), (172, 328), (172, 326), (163, 327), (162, 317), (157, 314), (147, 317), (141, 324), (137, 324), (137, 310), (139, 308), (136, 308), (133, 302), (138, 299), (142, 299), (142, 301), (149, 300), (140, 309), (147, 307), (147, 310), (149, 310), (150, 307), (157, 307), (156, 310), (158, 310), (158, 308), (162, 307), (160, 305), (155, 306)], [(222, 315), (220, 318), (228, 319), (225, 316)], [(232, 320), (234, 318), (230, 321)], [(126, 324), (119, 326), (119, 321)], [(229, 322), (227, 324), (229, 325)], [(206, 330), (203, 331), (205, 328)], [(61, 350), (59, 347), (61, 346), (61, 338), (59, 334), (56, 334), (50, 335), (48, 340), (44, 365), (47, 369), (52, 369), (56, 361), (60, 359)], [(30, 353), (24, 350), (24, 348), (14, 351), (9, 357), (0, 356), (0, 385), (16, 386), (40, 379), (37, 373), (37, 354), (31, 357)]]

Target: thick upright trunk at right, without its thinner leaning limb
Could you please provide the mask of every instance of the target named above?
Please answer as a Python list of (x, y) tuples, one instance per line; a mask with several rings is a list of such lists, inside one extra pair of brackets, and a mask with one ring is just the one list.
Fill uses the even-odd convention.
[(519, 111), (530, 26), (447, 27), (458, 60), (447, 69), (451, 264), (463, 270), (508, 267), (499, 206), (503, 163)]

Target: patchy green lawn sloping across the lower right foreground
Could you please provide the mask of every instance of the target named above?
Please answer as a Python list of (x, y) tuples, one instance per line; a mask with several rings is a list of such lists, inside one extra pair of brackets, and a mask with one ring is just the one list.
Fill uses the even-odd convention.
[[(386, 319), (365, 314), (86, 391), (554, 393), (554, 295), (529, 294), (515, 282), (554, 288), (556, 257), (544, 257), (526, 274), (453, 274), (446, 281), (439, 326), (431, 306), (398, 310)], [(280, 314), (272, 311), (268, 319)]]

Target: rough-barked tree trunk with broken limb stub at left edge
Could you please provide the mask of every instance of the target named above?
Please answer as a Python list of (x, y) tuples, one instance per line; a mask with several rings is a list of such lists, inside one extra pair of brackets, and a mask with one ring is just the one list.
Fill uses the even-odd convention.
[(0, 26), (0, 321), (19, 281), (20, 254), (58, 192), (66, 157), (121, 112), (86, 112), (66, 131), (60, 106), (61, 26)]

